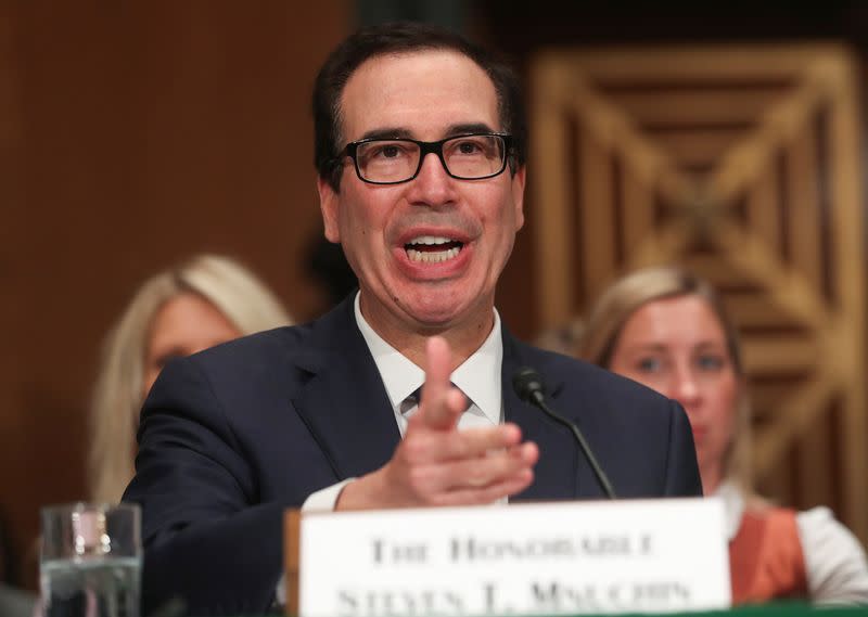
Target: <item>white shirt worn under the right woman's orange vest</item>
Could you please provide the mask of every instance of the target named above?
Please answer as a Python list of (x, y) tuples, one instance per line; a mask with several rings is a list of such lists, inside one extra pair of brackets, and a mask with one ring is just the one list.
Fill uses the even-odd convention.
[[(729, 481), (715, 493), (724, 500), (727, 535), (731, 541), (744, 514), (744, 496)], [(868, 604), (868, 562), (856, 537), (835, 520), (828, 507), (812, 507), (795, 515), (807, 591), (817, 604)]]

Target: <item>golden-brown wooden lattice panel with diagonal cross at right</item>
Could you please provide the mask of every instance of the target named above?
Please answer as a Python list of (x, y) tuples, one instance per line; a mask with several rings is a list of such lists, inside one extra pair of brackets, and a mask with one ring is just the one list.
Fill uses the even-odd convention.
[(855, 63), (837, 46), (552, 51), (532, 153), (544, 327), (681, 263), (739, 324), (754, 474), (868, 540)]

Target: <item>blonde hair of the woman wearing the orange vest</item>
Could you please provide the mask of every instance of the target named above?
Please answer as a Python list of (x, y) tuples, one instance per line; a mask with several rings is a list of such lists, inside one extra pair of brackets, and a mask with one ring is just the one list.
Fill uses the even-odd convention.
[(707, 281), (679, 268), (648, 268), (620, 279), (603, 292), (591, 309), (576, 355), (609, 369), (621, 332), (630, 316), (648, 303), (679, 296), (695, 296), (704, 300), (724, 330), (727, 351), (739, 384), (736, 429), (723, 464), (724, 479), (733, 480), (750, 494), (751, 419), (741, 345), (720, 296)]

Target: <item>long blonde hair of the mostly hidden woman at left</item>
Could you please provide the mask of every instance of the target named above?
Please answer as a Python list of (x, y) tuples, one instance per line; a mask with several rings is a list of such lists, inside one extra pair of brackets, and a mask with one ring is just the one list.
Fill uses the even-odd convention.
[(168, 300), (196, 294), (241, 334), (292, 323), (277, 297), (237, 261), (199, 255), (145, 281), (103, 343), (92, 396), (88, 481), (94, 501), (117, 502), (133, 475), (151, 325)]

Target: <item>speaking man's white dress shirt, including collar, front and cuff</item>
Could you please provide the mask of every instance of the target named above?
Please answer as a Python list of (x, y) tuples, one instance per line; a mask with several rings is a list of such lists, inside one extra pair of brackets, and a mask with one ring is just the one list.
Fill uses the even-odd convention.
[[(410, 407), (401, 412), (401, 403), (425, 382), (425, 372), (404, 357), (376, 334), (361, 314), (359, 295), (355, 301), (356, 324), (373, 356), (376, 370), (383, 380), (395, 422), (400, 436), (407, 430), (407, 421), (416, 411)], [(488, 337), (473, 355), (464, 360), (451, 375), (451, 382), (470, 400), (470, 407), (458, 420), (458, 428), (496, 426), (503, 421), (503, 402), (500, 391), (500, 368), (503, 363), (503, 339), (500, 335), (500, 316), (495, 309), (495, 323)], [(406, 407), (406, 406), (405, 406)], [(344, 486), (356, 478), (326, 487), (310, 494), (302, 504), (303, 512), (331, 512)]]

